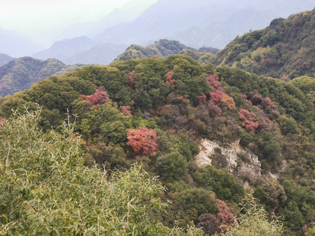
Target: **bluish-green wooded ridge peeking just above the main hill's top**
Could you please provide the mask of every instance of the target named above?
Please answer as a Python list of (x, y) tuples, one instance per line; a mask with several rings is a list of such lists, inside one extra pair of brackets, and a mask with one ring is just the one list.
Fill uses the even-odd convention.
[[(183, 51), (184, 50), (184, 51)], [(118, 56), (115, 60), (128, 60), (128, 59), (141, 59), (149, 58), (153, 56), (158, 56), (161, 58), (167, 58), (169, 55), (189, 53), (192, 57), (202, 57), (206, 53), (216, 54), (219, 49), (211, 47), (202, 47), (200, 49), (194, 49), (181, 44), (176, 40), (160, 39), (154, 44), (150, 44), (147, 47), (142, 47), (140, 45), (131, 45), (126, 49), (126, 51)]]

